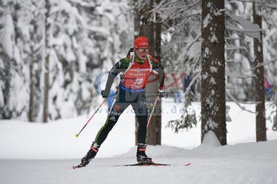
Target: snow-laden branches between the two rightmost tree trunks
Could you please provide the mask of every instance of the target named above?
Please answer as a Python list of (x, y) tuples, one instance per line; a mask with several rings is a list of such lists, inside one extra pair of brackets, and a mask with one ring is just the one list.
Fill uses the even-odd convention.
[[(251, 56), (252, 37), (257, 37), (258, 28), (244, 12), (249, 6), (238, 1), (226, 2), (226, 93), (237, 100), (254, 100), (253, 59)], [(247, 30), (257, 30), (247, 32)]]

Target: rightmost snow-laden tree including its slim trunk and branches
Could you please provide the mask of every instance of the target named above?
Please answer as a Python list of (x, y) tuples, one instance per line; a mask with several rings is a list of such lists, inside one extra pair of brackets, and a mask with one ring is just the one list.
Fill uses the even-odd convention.
[[(276, 64), (274, 64), (276, 49), (271, 44), (273, 43), (272, 39), (274, 39), (272, 33), (276, 32), (276, 21), (274, 21), (276, 18), (269, 16), (274, 14), (272, 9), (274, 4), (276, 5), (276, 1), (256, 1), (258, 10), (253, 8), (252, 1), (233, 1), (227, 3), (226, 6), (228, 12), (227, 34), (229, 35), (226, 39), (229, 46), (226, 48), (226, 50), (229, 50), (227, 55), (227, 61), (229, 61), (227, 62), (227, 70), (229, 71), (227, 84), (229, 86), (231, 86), (230, 83), (235, 84), (235, 86), (240, 85), (240, 87), (233, 89), (229, 88), (227, 94), (232, 99), (234, 98), (231, 97), (231, 93), (238, 100), (256, 100), (257, 140), (266, 140), (265, 95), (267, 99), (270, 99), (274, 94), (272, 89), (266, 89), (269, 93), (265, 94), (264, 82), (264, 79), (269, 79), (271, 84), (274, 85), (274, 75), (272, 73), (276, 73)], [(231, 15), (231, 11), (235, 11), (235, 15)], [(253, 12), (254, 23), (251, 21), (252, 17), (249, 17), (251, 12)], [(238, 28), (233, 27), (235, 24)], [(252, 39), (254, 39), (254, 42)], [(252, 47), (254, 47), (254, 50)], [(267, 54), (263, 56), (262, 53)], [(262, 62), (263, 60), (265, 62)], [(234, 71), (236, 71), (236, 74)], [(238, 73), (238, 71), (240, 72)], [(255, 90), (253, 86), (256, 86)], [(238, 92), (240, 95), (238, 95)], [(258, 130), (262, 131), (259, 134), (261, 136), (258, 136)]]

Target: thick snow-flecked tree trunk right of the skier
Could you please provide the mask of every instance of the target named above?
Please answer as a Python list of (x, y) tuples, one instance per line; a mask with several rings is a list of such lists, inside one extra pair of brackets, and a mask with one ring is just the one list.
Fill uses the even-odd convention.
[[(226, 145), (224, 1), (202, 0), (202, 141), (213, 131)], [(222, 10), (222, 11), (221, 11)]]

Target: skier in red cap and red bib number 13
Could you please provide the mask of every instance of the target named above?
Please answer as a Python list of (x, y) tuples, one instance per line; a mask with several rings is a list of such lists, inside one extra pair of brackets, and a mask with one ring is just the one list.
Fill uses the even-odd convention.
[(89, 161), (96, 156), (100, 145), (102, 145), (102, 142), (107, 138), (109, 131), (116, 125), (118, 118), (130, 104), (139, 122), (136, 160), (139, 163), (152, 162), (152, 158), (149, 158), (145, 154), (148, 122), (145, 86), (148, 82), (150, 73), (159, 76), (159, 95), (163, 97), (164, 71), (159, 60), (148, 55), (148, 50), (148, 39), (146, 37), (137, 37), (134, 41), (134, 51), (131, 50), (127, 57), (120, 59), (120, 61), (111, 68), (111, 71), (109, 71), (107, 84), (105, 90), (101, 91), (101, 95), (102, 98), (108, 97), (111, 84), (114, 82), (116, 75), (120, 73), (121, 80), (118, 86), (116, 100), (109, 111), (105, 125), (98, 131), (96, 139), (92, 142), (87, 155), (82, 158), (80, 164), (82, 167), (88, 165)]

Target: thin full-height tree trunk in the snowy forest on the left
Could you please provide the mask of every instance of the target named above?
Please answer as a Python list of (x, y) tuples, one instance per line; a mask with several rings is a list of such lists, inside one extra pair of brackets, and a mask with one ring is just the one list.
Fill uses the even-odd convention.
[(49, 92), (49, 57), (50, 57), (50, 23), (47, 21), (50, 12), (49, 0), (45, 0), (45, 63), (44, 63), (44, 111), (43, 111), (43, 122), (48, 121), (48, 92)]

